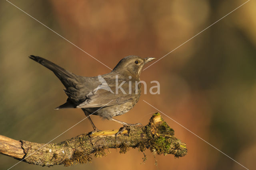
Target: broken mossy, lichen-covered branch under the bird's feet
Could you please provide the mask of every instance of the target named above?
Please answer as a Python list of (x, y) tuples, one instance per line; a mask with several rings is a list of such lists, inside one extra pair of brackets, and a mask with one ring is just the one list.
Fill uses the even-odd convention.
[(82, 134), (61, 143), (48, 144), (16, 141), (0, 135), (0, 153), (41, 166), (91, 162), (92, 154), (101, 157), (109, 148), (120, 148), (120, 153), (132, 147), (141, 152), (150, 149), (157, 154), (174, 154), (175, 157), (187, 154), (186, 144), (174, 137), (174, 130), (159, 113), (154, 114), (146, 126), (127, 128), (116, 137), (118, 131)]

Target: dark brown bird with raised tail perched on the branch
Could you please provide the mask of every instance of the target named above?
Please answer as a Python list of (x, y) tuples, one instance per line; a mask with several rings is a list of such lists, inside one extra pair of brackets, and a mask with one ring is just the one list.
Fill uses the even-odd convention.
[(118, 133), (126, 127), (140, 125), (113, 117), (128, 112), (138, 102), (142, 67), (155, 58), (130, 55), (121, 59), (111, 72), (94, 77), (78, 76), (39, 56), (30, 55), (29, 58), (54, 72), (64, 85), (68, 98), (66, 103), (55, 109), (81, 108), (94, 129), (91, 133), (100, 131), (90, 118), (92, 114), (122, 124)]

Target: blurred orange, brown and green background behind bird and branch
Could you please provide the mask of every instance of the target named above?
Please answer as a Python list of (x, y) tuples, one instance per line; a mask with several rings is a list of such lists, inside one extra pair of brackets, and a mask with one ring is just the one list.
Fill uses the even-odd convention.
[[(114, 68), (128, 55), (166, 55), (245, 0), (84, 1), (10, 0), (102, 63)], [(145, 100), (249, 169), (256, 157), (256, 2), (250, 1), (142, 71), (148, 94), (128, 113), (116, 117), (146, 125), (156, 109)], [(81, 76), (110, 69), (65, 41), (7, 1), (0, 2), (0, 134), (16, 140), (47, 143), (85, 115), (80, 109), (54, 110), (66, 101), (64, 86), (48, 69), (28, 59), (44, 57)], [(160, 94), (149, 94), (150, 81), (160, 82)], [(156, 156), (130, 149), (112, 149), (92, 163), (51, 169), (232, 169), (242, 166), (168, 117), (175, 136), (188, 154)], [(101, 130), (120, 125), (98, 116)], [(52, 142), (92, 131), (86, 119)], [(107, 151), (106, 151), (107, 152)], [(155, 159), (158, 166), (155, 166)], [(18, 160), (0, 155), (0, 169)], [(46, 169), (47, 167), (43, 167)], [(39, 170), (20, 162), (13, 170)]]

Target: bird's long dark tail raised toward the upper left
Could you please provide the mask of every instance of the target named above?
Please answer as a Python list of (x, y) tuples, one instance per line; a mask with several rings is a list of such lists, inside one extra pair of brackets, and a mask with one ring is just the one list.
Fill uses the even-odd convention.
[(52, 70), (52, 72), (54, 72), (54, 74), (60, 79), (60, 81), (62, 82), (62, 84), (64, 84), (64, 86), (66, 88), (68, 86), (70, 86), (70, 82), (68, 82), (67, 80), (68, 79), (69, 80), (76, 79), (76, 77), (77, 77), (75, 74), (69, 72), (68, 70), (65, 70), (64, 68), (44, 59), (42, 57), (30, 55), (29, 58), (42, 64), (46, 68)]

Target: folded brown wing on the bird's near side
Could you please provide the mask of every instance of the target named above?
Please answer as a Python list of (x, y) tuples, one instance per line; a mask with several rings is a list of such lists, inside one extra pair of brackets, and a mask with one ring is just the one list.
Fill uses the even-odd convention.
[[(126, 92), (123, 93), (118, 90), (116, 94), (116, 80), (111, 78), (105, 78), (107, 85), (104, 83), (102, 88), (96, 88), (86, 95), (86, 100), (77, 106), (77, 108), (88, 108), (88, 107), (102, 107), (102, 106), (113, 106), (116, 104), (124, 104), (132, 101), (132, 94), (128, 94), (128, 82), (124, 82), (122, 85)], [(101, 85), (102, 85), (101, 84)]]

